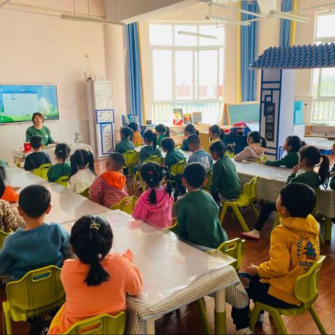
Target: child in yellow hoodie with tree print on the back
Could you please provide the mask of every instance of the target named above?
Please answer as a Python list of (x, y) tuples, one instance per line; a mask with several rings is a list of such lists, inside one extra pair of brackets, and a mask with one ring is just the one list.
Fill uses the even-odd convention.
[[(253, 301), (279, 308), (301, 305), (294, 294), (295, 281), (320, 255), (319, 225), (311, 215), (315, 203), (315, 193), (306, 184), (291, 183), (281, 189), (276, 202), (281, 223), (271, 233), (270, 260), (259, 266), (251, 263), (247, 273), (240, 274)], [(248, 328), (249, 306), (233, 307), (232, 319), (237, 334), (252, 334)]]

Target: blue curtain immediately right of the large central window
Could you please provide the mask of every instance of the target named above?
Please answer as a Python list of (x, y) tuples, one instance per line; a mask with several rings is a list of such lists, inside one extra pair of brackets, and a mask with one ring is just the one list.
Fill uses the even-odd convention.
[[(241, 9), (259, 13), (257, 1), (241, 1)], [(253, 20), (256, 17), (241, 13), (241, 20)], [(250, 27), (241, 26), (241, 101), (255, 101), (257, 73), (248, 66), (258, 56), (258, 21)]]

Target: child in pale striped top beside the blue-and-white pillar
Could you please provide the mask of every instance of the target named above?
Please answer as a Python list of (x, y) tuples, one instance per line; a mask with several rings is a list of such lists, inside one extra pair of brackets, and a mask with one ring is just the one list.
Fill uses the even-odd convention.
[(260, 135), (259, 131), (249, 132), (246, 142), (248, 147), (245, 147), (244, 150), (234, 156), (235, 161), (255, 162), (264, 155), (267, 149), (267, 141)]

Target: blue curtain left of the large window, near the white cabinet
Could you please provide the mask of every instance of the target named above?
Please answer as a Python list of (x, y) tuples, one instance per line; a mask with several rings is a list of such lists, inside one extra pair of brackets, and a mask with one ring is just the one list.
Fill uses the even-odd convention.
[(126, 36), (128, 45), (128, 77), (131, 91), (131, 114), (139, 117), (140, 124), (143, 124), (142, 73), (137, 22), (126, 25)]

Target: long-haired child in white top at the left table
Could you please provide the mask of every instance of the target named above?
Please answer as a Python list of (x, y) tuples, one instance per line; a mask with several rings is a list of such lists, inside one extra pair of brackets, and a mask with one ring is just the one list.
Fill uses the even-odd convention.
[(90, 151), (77, 149), (70, 156), (71, 172), (68, 176), (68, 188), (83, 193), (96, 179), (94, 156)]

